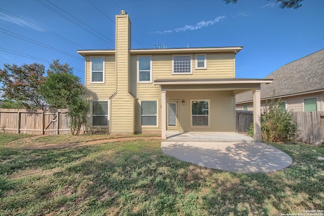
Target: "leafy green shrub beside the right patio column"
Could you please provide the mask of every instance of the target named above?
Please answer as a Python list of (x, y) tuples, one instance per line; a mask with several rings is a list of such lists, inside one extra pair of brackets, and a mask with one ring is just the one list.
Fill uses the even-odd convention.
[[(269, 106), (266, 104), (261, 110), (261, 137), (270, 142), (284, 142), (298, 136), (297, 122), (293, 114), (282, 107), (282, 100), (274, 102), (271, 99)], [(253, 123), (249, 135), (253, 136)]]

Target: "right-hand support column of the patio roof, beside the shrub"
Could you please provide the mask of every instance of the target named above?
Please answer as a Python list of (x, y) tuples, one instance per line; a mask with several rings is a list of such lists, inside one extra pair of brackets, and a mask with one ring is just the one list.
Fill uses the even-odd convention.
[(261, 88), (253, 89), (253, 128), (255, 142), (261, 142)]

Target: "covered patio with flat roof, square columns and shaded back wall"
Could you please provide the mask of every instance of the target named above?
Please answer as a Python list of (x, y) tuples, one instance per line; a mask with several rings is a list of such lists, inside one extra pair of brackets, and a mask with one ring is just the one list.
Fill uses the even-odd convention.
[[(260, 93), (261, 93), (261, 83), (271, 83), (272, 79), (248, 79), (248, 78), (218, 78), (218, 79), (156, 79), (154, 80), (155, 85), (160, 85), (161, 88), (161, 138), (162, 140), (167, 139), (183, 139), (187, 136), (187, 138), (197, 139), (192, 134), (192, 132), (206, 132), (206, 133), (214, 133), (214, 132), (235, 132), (235, 95), (241, 94), (247, 91), (253, 92), (253, 112), (254, 112), (254, 142), (261, 142), (261, 107), (260, 107)], [(218, 98), (214, 97), (215, 94), (218, 94)], [(199, 95), (199, 96), (197, 96)], [(213, 95), (213, 96), (212, 96)], [(221, 95), (226, 95), (222, 98)], [(214, 98), (213, 98), (214, 97)], [(184, 98), (185, 100), (183, 100)], [(194, 99), (205, 99), (208, 107), (208, 124), (204, 126), (194, 126), (192, 121), (193, 118), (191, 114), (191, 108), (187, 105), (188, 101), (191, 103)], [(222, 99), (226, 100), (226, 102), (222, 101)], [(179, 112), (177, 110), (173, 116), (176, 118), (174, 122), (178, 122), (179, 118), (184, 123), (179, 123), (181, 126), (177, 126), (175, 129), (175, 133), (181, 132), (182, 136), (168, 136), (168, 120), (169, 120), (169, 104), (170, 101), (175, 101), (175, 103), (182, 103), (182, 110)], [(187, 101), (187, 103), (186, 103)], [(193, 101), (195, 102), (195, 101)], [(200, 101), (201, 102), (201, 101)], [(211, 107), (209, 107), (211, 106)], [(220, 112), (217, 113), (216, 110)], [(211, 114), (212, 113), (212, 114)], [(228, 117), (222, 118), (222, 114), (225, 114)], [(178, 117), (179, 116), (179, 117)], [(212, 117), (211, 117), (212, 116)], [(222, 126), (222, 124), (226, 126)], [(174, 124), (176, 126), (176, 124)], [(187, 134), (185, 132), (190, 131), (191, 134)], [(238, 140), (249, 140), (248, 137), (240, 137), (240, 138), (230, 138), (239, 136), (238, 134), (213, 134), (214, 136), (210, 136), (213, 138), (209, 139), (218, 139), (225, 140), (230, 139), (238, 139)], [(172, 133), (172, 132), (169, 132)], [(190, 135), (190, 136), (189, 136)], [(201, 135), (201, 134), (200, 134)], [(217, 135), (217, 136), (216, 136)], [(223, 138), (220, 137), (222, 135)], [(234, 136), (235, 135), (235, 136)], [(188, 137), (189, 136), (189, 137)], [(205, 137), (208, 137), (208, 134), (205, 134)], [(243, 136), (243, 135), (242, 135)], [(214, 142), (214, 141), (212, 141)]]

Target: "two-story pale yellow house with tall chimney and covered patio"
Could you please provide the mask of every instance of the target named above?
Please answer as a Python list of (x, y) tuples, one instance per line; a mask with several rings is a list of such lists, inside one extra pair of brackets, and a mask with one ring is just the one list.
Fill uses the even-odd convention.
[(255, 139), (261, 140), (260, 85), (271, 80), (235, 78), (242, 47), (132, 49), (127, 13), (115, 23), (114, 50), (77, 51), (85, 57), (86, 88), (98, 98), (87, 131), (163, 139), (167, 130), (235, 132), (234, 96), (252, 90)]

